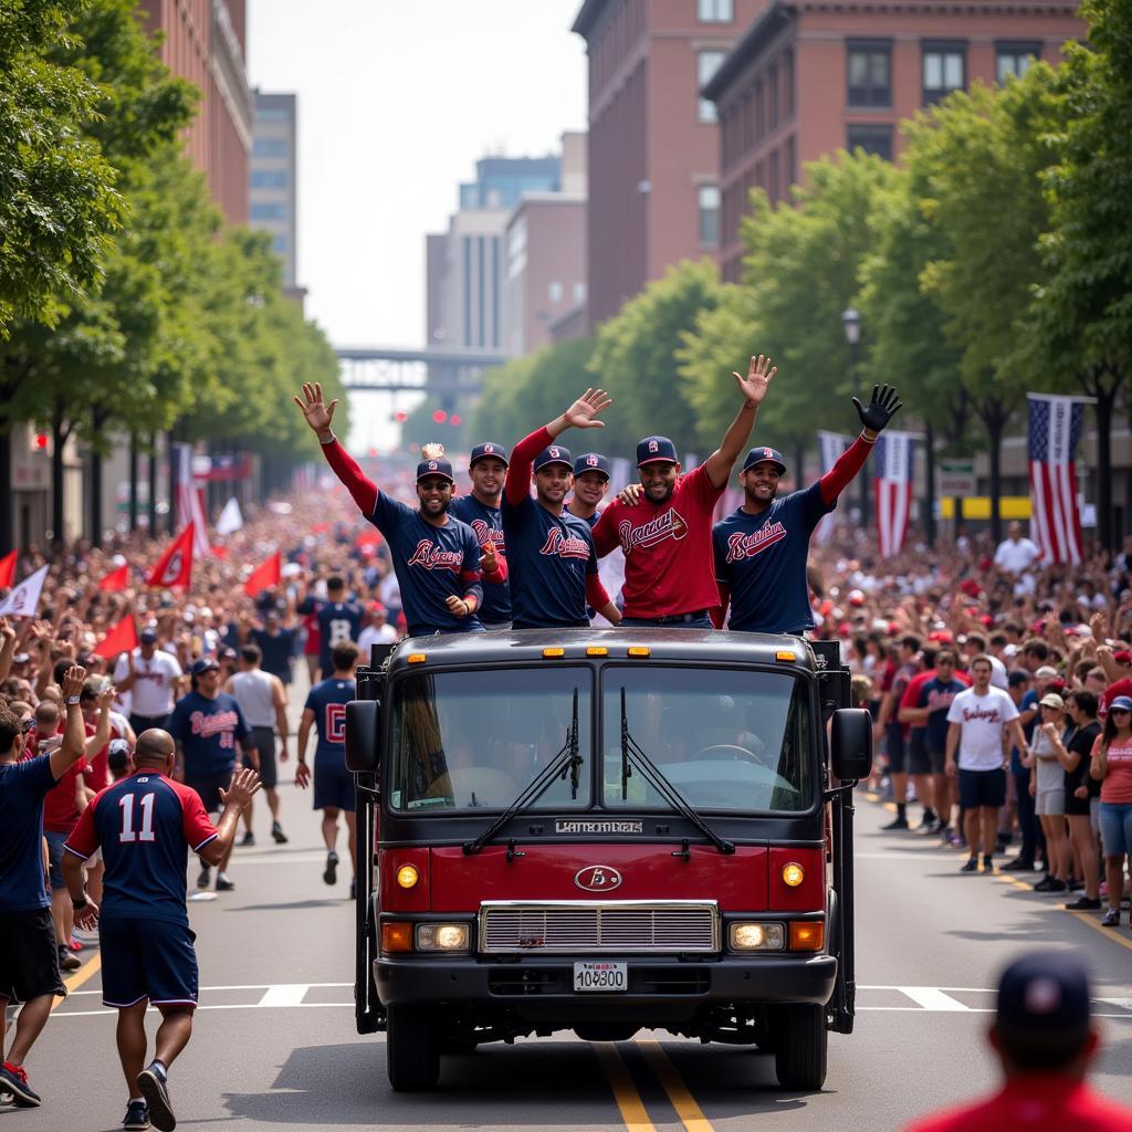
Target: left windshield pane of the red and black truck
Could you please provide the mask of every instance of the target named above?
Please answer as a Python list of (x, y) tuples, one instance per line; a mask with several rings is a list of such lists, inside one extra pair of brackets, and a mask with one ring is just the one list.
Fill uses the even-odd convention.
[(503, 809), (569, 743), (577, 693), (580, 772), (538, 809), (591, 805), (592, 670), (411, 672), (396, 684), (388, 790), (394, 809)]

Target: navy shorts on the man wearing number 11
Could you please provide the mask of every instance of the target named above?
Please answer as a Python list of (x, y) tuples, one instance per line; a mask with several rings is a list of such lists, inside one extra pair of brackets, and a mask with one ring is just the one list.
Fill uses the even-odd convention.
[(106, 916), (98, 921), (102, 1004), (196, 1006), (196, 936), (187, 924)]

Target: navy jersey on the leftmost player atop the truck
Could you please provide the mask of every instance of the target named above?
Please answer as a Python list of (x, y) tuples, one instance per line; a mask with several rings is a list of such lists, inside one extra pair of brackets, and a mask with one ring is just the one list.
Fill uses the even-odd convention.
[(369, 521), (389, 543), (410, 636), (481, 628), (475, 614), (455, 617), (445, 604), (446, 598), (465, 594), (483, 601), (480, 544), (466, 523), (449, 516), (444, 526), (434, 526), (384, 491), (377, 492)]

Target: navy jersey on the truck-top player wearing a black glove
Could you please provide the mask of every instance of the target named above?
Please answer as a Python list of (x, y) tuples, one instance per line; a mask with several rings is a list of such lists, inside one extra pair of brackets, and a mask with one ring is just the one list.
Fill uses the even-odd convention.
[(741, 507), (712, 531), (715, 581), (730, 586), (730, 628), (800, 633), (814, 627), (806, 582), (809, 537), (837, 506), (821, 483), (775, 499), (757, 515)]

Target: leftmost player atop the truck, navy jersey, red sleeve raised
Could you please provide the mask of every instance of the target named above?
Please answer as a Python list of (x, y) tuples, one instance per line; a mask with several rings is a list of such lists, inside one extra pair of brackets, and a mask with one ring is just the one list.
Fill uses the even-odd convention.
[(379, 491), (338, 444), (331, 428), (337, 401), (324, 404), (319, 383), (303, 385), (302, 398), (294, 401), (318, 436), (334, 474), (389, 544), (409, 635), (482, 629), (475, 616), (483, 600), (480, 544), (466, 523), (448, 515), (455, 482), (448, 461), (421, 453), (426, 458), (417, 465), (420, 507), (413, 511)]

